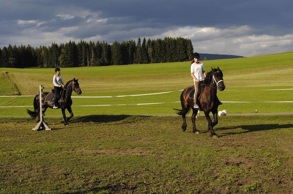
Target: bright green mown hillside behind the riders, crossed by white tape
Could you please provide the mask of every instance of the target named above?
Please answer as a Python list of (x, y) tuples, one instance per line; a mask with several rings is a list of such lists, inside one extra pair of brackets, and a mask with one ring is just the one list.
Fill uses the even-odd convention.
[[(291, 112), (292, 103), (268, 103), (292, 101), (292, 90), (262, 91), (265, 89), (293, 88), (293, 52), (264, 56), (202, 61), (206, 72), (219, 66), (224, 74), (226, 90), (217, 93), (222, 101), (250, 101), (253, 103), (224, 103), (219, 110), (228, 113)], [(0, 68), (8, 72), (22, 95), (35, 95), (38, 85), (45, 91), (53, 88), (54, 69)], [(61, 68), (64, 82), (79, 78), (81, 96), (117, 96), (169, 92), (192, 85), (190, 62), (156, 63), (125, 66)], [(1, 85), (5, 80), (0, 79)], [(13, 95), (13, 90), (1, 88), (1, 95)], [(231, 91), (242, 90), (242, 91)], [(244, 91), (245, 90), (245, 91)], [(247, 91), (248, 90), (248, 91)], [(127, 96), (120, 98), (73, 98), (75, 115), (88, 114), (174, 114), (172, 107), (180, 108), (181, 92), (167, 94)], [(73, 96), (77, 96), (73, 94)], [(32, 106), (33, 97), (1, 97), (0, 106)], [(127, 105), (158, 103), (155, 105)], [(79, 107), (75, 105), (119, 105)], [(31, 108), (32, 109), (32, 108)], [(26, 115), (26, 107), (0, 108), (0, 116)], [(61, 111), (49, 110), (47, 115), (61, 115)]]

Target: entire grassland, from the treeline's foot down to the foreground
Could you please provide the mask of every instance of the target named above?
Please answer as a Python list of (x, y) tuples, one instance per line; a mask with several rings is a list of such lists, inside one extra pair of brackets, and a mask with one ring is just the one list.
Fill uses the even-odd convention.
[[(0, 97), (0, 193), (293, 192), (293, 115), (229, 115), (292, 112), (293, 103), (281, 101), (293, 101), (293, 90), (283, 90), (293, 88), (293, 52), (203, 64), (224, 74), (218, 110), (228, 116), (218, 118), (217, 139), (202, 112), (198, 135), (190, 115), (185, 132), (181, 116), (143, 116), (181, 108), (190, 62), (61, 68), (65, 83), (79, 78), (80, 97), (139, 96), (72, 98), (70, 126), (45, 117), (51, 131), (32, 131), (36, 120), (17, 117), (33, 107), (16, 106), (32, 106), (34, 97)], [(53, 68), (0, 71), (0, 95), (53, 88)], [(159, 92), (169, 93), (140, 95)]]

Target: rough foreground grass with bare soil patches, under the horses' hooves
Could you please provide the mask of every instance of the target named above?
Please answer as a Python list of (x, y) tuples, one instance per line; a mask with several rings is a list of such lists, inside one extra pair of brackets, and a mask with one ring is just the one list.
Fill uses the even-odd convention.
[(291, 193), (292, 115), (0, 118), (0, 193)]

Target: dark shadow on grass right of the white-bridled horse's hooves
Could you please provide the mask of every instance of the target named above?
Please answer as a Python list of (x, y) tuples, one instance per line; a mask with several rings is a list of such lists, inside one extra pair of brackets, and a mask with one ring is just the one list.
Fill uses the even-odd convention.
[(222, 127), (222, 128), (215, 128), (215, 132), (219, 130), (230, 130), (230, 129), (237, 129), (241, 128), (247, 131), (241, 131), (241, 132), (228, 132), (221, 136), (226, 135), (235, 135), (235, 134), (243, 134), (243, 133), (249, 133), (253, 131), (266, 131), (266, 130), (272, 130), (272, 129), (286, 129), (286, 128), (293, 128), (293, 125), (291, 124), (257, 124), (257, 125), (239, 125), (239, 126), (233, 126), (233, 127)]

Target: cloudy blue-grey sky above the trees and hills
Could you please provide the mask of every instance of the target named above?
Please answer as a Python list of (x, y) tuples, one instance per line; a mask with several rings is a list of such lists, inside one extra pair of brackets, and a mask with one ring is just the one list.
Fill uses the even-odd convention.
[(0, 0), (0, 48), (183, 37), (194, 52), (293, 51), (292, 0)]

